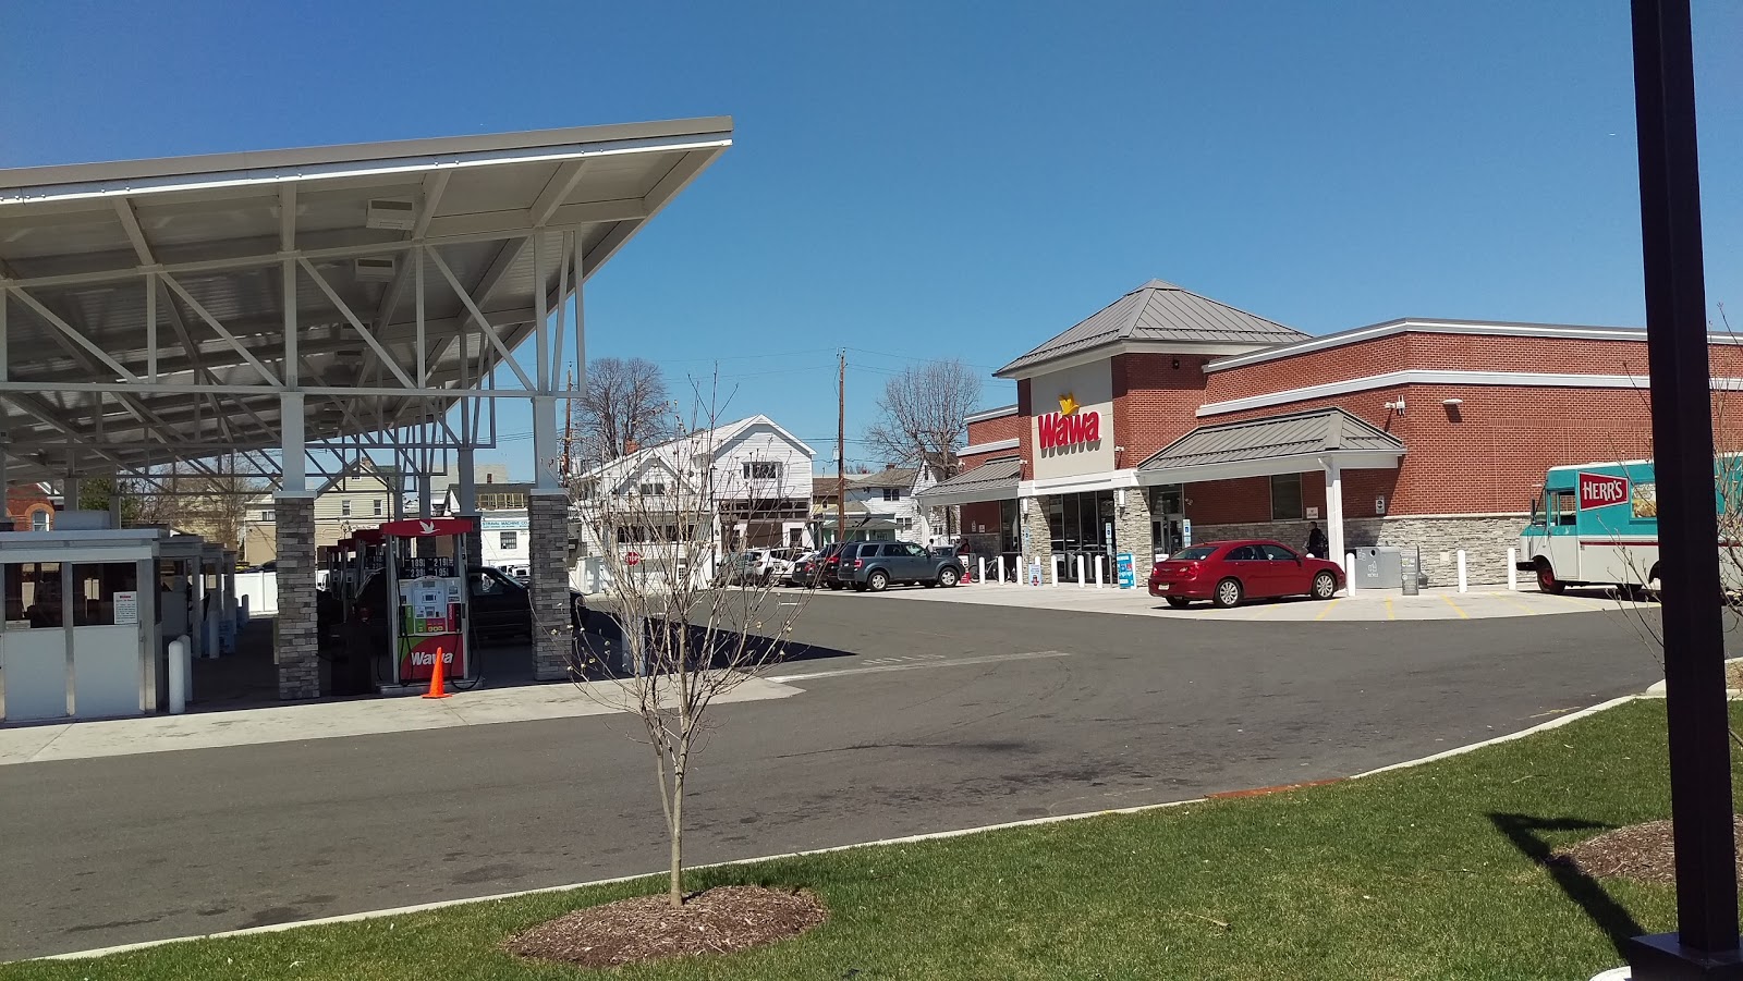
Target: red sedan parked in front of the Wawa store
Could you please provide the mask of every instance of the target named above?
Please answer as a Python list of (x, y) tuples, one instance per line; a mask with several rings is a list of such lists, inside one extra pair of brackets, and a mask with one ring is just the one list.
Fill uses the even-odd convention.
[(1150, 596), (1180, 608), (1194, 599), (1238, 606), (1267, 596), (1330, 599), (1344, 587), (1337, 563), (1264, 538), (1180, 549), (1150, 570)]

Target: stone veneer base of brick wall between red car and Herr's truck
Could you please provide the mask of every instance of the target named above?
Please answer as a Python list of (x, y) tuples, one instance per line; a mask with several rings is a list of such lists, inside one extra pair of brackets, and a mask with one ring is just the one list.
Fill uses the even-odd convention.
[[(1421, 547), (1422, 572), (1429, 585), (1455, 585), (1459, 582), (1457, 551), (1464, 549), (1466, 578), (1473, 584), (1508, 580), (1508, 549), (1520, 544), (1520, 530), (1529, 514), (1452, 514), (1417, 516), (1387, 514), (1386, 518), (1349, 518), (1344, 521), (1344, 549), (1368, 545)], [(1306, 549), (1309, 521), (1255, 521), (1246, 524), (1194, 524), (1192, 542), (1222, 538), (1276, 538), (1286, 545)], [(1319, 523), (1321, 528), (1325, 523)], [(1342, 558), (1337, 558), (1342, 563)]]

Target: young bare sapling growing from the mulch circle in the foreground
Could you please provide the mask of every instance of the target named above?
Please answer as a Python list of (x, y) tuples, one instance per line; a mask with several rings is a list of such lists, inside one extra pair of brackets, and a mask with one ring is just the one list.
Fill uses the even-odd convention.
[[(671, 845), (668, 899), (682, 908), (685, 789), (709, 706), (786, 657), (804, 610), (804, 598), (776, 603), (777, 582), (746, 556), (716, 563), (715, 552), (723, 526), (802, 519), (810, 474), (788, 474), (791, 460), (718, 460), (730, 432), (713, 397), (676, 429), (650, 453), (577, 476), (577, 511), (594, 538), (594, 608), (615, 617), (622, 638), (584, 636), (572, 674), (589, 697), (641, 720)], [(788, 493), (793, 481), (804, 488)]]

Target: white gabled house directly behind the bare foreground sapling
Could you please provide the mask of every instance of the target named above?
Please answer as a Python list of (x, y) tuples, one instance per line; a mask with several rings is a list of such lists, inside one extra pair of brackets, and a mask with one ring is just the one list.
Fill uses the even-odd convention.
[[(748, 547), (810, 547), (812, 457), (810, 446), (756, 415), (584, 470), (573, 504), (580, 561), (694, 542), (704, 554), (683, 561), (699, 570)], [(680, 516), (699, 519), (694, 533), (678, 528)]]

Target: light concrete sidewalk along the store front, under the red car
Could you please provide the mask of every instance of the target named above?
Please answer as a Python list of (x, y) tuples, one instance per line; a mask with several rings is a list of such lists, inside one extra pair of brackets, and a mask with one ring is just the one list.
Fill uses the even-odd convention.
[(1424, 589), (1417, 596), (1398, 591), (1361, 591), (1354, 596), (1339, 594), (1330, 601), (1307, 599), (1253, 599), (1232, 610), (1218, 610), (1210, 603), (1192, 603), (1175, 610), (1166, 601), (1138, 589), (1103, 585), (1016, 585), (969, 584), (955, 589), (894, 587), (887, 592), (863, 594), (873, 601), (891, 603), (976, 603), (987, 606), (1021, 606), (1025, 610), (1072, 610), (1079, 613), (1128, 613), (1136, 617), (1171, 617), (1190, 620), (1485, 620), (1494, 617), (1539, 617), (1546, 613), (1591, 613), (1616, 610), (1614, 599), (1600, 591), (1550, 596), (1546, 592), (1509, 592), (1504, 585), (1473, 585), (1469, 592), (1457, 589)]

